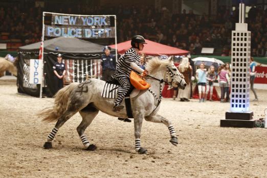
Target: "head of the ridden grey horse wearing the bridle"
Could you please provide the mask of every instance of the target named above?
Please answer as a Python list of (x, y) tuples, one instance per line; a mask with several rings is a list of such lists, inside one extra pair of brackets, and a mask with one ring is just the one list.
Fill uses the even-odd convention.
[(168, 59), (169, 64), (166, 65), (166, 81), (170, 83), (173, 87), (180, 87), (182, 90), (186, 87), (186, 81), (183, 74), (179, 72), (173, 63), (173, 56)]

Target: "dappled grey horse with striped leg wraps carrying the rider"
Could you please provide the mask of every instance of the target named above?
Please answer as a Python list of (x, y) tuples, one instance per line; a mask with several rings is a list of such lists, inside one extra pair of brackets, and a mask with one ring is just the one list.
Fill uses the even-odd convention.
[[(151, 84), (151, 87), (149, 90), (140, 91), (137, 96), (131, 98), (131, 110), (135, 121), (135, 150), (141, 154), (147, 153), (147, 150), (141, 147), (140, 140), (143, 119), (166, 125), (170, 132), (170, 142), (175, 146), (178, 144), (171, 122), (158, 115), (157, 112), (160, 108), (161, 92), (165, 83), (174, 87), (180, 86), (182, 89), (186, 86), (184, 76), (174, 66), (172, 57), (167, 60), (154, 57), (147, 62), (146, 69), (149, 72), (146, 81)], [(113, 112), (115, 99), (101, 96), (104, 85), (105, 81), (90, 79), (82, 83), (72, 83), (55, 95), (53, 108), (46, 108), (38, 114), (44, 121), (57, 121), (47, 142), (43, 145), (44, 148), (52, 148), (52, 141), (58, 129), (77, 112), (82, 116), (82, 121), (77, 127), (78, 134), (85, 149), (91, 151), (95, 150), (96, 146), (89, 143), (84, 131), (97, 116), (99, 110), (110, 116), (127, 118), (125, 102), (122, 102), (124, 108), (120, 112)]]

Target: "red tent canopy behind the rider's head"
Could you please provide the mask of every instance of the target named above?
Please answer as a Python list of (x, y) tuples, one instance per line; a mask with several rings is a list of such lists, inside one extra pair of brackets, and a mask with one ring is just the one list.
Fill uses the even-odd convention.
[[(181, 50), (179, 48), (169, 47), (167, 45), (150, 41), (146, 39), (147, 44), (145, 44), (144, 50), (140, 53), (144, 53), (146, 55), (167, 55), (167, 56), (173, 56), (173, 55), (185, 55), (189, 51)], [(115, 49), (115, 44), (110, 46), (111, 48)], [(125, 41), (117, 44), (117, 49), (119, 54), (125, 53), (128, 49), (131, 48), (131, 41)]]

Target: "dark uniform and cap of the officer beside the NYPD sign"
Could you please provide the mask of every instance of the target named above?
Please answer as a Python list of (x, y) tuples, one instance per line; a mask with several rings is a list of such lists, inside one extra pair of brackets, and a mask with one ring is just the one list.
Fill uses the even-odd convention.
[[(61, 54), (58, 54), (57, 56), (61, 57)], [(63, 72), (65, 71), (65, 64), (62, 61), (61, 63), (56, 61), (53, 66), (53, 71), (56, 71), (59, 76), (62, 76)], [(54, 82), (55, 82), (55, 89), (57, 91), (63, 87), (63, 78), (60, 79), (55, 75)]]

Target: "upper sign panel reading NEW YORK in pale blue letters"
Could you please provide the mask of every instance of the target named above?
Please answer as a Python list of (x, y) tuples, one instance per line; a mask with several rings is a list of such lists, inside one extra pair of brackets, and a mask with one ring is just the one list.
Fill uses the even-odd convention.
[(77, 16), (52, 14), (52, 25), (110, 26), (109, 16)]

